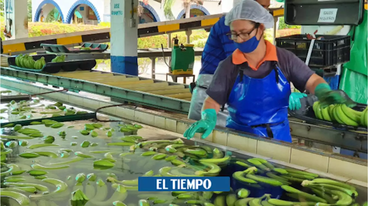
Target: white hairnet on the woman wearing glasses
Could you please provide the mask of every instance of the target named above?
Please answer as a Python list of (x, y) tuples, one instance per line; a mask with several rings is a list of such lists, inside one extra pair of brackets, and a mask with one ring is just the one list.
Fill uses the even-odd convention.
[(273, 28), (273, 16), (254, 0), (242, 0), (234, 5), (225, 16), (225, 25), (229, 26), (231, 22), (239, 19), (264, 24), (266, 28)]

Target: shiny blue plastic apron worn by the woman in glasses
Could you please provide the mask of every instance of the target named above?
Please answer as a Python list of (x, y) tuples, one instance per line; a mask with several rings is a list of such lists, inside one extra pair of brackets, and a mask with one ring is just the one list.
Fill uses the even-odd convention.
[(262, 79), (239, 69), (229, 100), (226, 127), (291, 142), (287, 108), (290, 84), (275, 62), (275, 69)]

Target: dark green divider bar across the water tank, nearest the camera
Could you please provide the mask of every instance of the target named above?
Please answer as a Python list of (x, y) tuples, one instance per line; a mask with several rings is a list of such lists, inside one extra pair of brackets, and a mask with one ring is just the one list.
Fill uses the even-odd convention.
[[(15, 124), (20, 124), (22, 126), (31, 125), (31, 122), (42, 122), (42, 120), (49, 119), (54, 120), (57, 122), (71, 122), (77, 120), (87, 120), (87, 119), (96, 119), (96, 113), (86, 113), (86, 114), (78, 114), (78, 115), (67, 115), (67, 116), (57, 116), (57, 117), (50, 117), (50, 118), (43, 118), (43, 119), (29, 119), (23, 121), (16, 121), (16, 122), (4, 122), (0, 123), (0, 127), (4, 128), (4, 126), (13, 127)], [(12, 124), (10, 126), (9, 124)], [(14, 125), (13, 125), (14, 124)]]

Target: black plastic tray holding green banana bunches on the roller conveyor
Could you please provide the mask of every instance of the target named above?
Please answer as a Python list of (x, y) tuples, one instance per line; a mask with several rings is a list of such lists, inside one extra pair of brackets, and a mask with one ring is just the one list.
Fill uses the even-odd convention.
[(31, 55), (34, 60), (38, 60), (41, 57), (45, 57), (46, 64), (43, 66), (42, 69), (28, 69), (22, 68), (15, 64), (15, 57), (8, 58), (8, 64), (11, 68), (25, 70), (30, 72), (42, 72), (42, 73), (57, 73), (61, 70), (65, 72), (72, 72), (77, 69), (81, 70), (91, 70), (96, 66), (95, 59), (83, 59), (83, 60), (71, 60), (71, 61), (64, 61), (64, 62), (51, 62), (53, 58), (56, 57), (55, 54), (46, 54), (46, 55)]

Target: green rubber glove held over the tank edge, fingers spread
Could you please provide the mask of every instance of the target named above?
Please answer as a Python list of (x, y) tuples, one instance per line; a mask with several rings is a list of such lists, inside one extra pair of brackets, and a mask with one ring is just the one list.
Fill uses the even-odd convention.
[(217, 113), (215, 109), (202, 111), (202, 119), (193, 123), (185, 132), (184, 137), (190, 140), (195, 133), (202, 133), (202, 139), (208, 137), (216, 127)]

